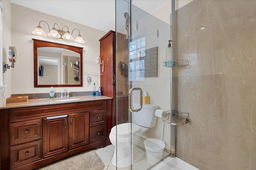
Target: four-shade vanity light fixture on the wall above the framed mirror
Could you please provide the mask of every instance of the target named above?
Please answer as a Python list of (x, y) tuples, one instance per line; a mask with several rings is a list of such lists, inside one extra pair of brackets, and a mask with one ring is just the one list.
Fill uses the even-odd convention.
[[(44, 30), (42, 29), (42, 27), (40, 26), (41, 22), (42, 21), (40, 21), (39, 26), (37, 26), (36, 29), (34, 31), (32, 31), (32, 33), (34, 35), (41, 36), (41, 37), (46, 37), (48, 35), (49, 37), (56, 38), (56, 39), (60, 38), (60, 39), (64, 39), (65, 41), (73, 41), (74, 40), (76, 43), (80, 43), (80, 44), (85, 43), (84, 39), (80, 35), (80, 31), (76, 28), (72, 30), (72, 33), (70, 33), (68, 26), (64, 26), (64, 27), (62, 27), (62, 29), (60, 29), (60, 26), (57, 23), (54, 23), (53, 28), (50, 30), (49, 24), (46, 21), (43, 21), (48, 25), (48, 29), (49, 29), (49, 33), (46, 34), (44, 32)], [(55, 25), (58, 25), (58, 29), (55, 28)], [(63, 30), (65, 27), (67, 27), (68, 31)], [(79, 33), (78, 36), (76, 37), (76, 39), (74, 39), (72, 37), (74, 30), (78, 30), (78, 33)]]

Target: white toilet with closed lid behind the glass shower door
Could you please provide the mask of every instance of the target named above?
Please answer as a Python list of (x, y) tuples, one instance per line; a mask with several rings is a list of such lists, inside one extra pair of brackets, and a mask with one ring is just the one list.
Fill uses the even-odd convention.
[[(138, 104), (134, 104), (134, 107), (139, 107)], [(114, 156), (112, 164), (117, 168), (124, 168), (131, 165), (133, 162), (130, 160), (130, 140), (132, 140), (133, 148), (142, 142), (137, 136), (147, 131), (150, 127), (156, 125), (155, 111), (158, 109), (158, 105), (144, 104), (140, 111), (133, 112), (133, 123), (122, 123), (112, 127), (109, 139), (115, 146)], [(132, 131), (132, 139), (130, 139), (130, 131)], [(116, 143), (117, 141), (117, 143)], [(116, 149), (117, 148), (117, 149)], [(117, 161), (116, 161), (116, 158)]]

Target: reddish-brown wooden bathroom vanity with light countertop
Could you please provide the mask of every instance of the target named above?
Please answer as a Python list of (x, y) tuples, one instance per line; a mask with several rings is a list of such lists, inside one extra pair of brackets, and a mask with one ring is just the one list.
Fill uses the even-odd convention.
[(0, 168), (33, 170), (72, 154), (106, 147), (111, 128), (112, 98), (105, 96), (6, 104), (0, 108)]

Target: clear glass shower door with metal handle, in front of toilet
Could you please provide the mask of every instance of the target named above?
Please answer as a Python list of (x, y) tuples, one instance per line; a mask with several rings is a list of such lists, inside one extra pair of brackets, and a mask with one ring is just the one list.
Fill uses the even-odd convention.
[[(154, 6), (152, 2), (156, 3), (147, 1), (146, 5)], [(169, 23), (166, 23), (140, 9), (138, 4), (136, 0), (116, 0), (117, 137), (112, 164), (117, 168), (146, 170), (158, 161), (151, 157), (154, 152), (146, 152), (144, 141), (164, 140), (164, 158), (170, 154), (170, 124), (163, 126), (162, 118), (157, 117), (154, 127), (138, 130), (134, 115), (140, 111), (133, 110), (141, 107), (141, 96), (146, 96), (142, 107), (155, 104), (159, 109), (170, 110), (171, 72), (162, 63), (171, 31), (170, 12), (167, 12)]]

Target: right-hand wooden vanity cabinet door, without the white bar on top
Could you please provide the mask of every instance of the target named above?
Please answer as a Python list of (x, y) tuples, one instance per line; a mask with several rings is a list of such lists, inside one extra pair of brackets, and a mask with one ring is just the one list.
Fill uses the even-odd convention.
[(69, 149), (89, 144), (89, 112), (68, 115)]

